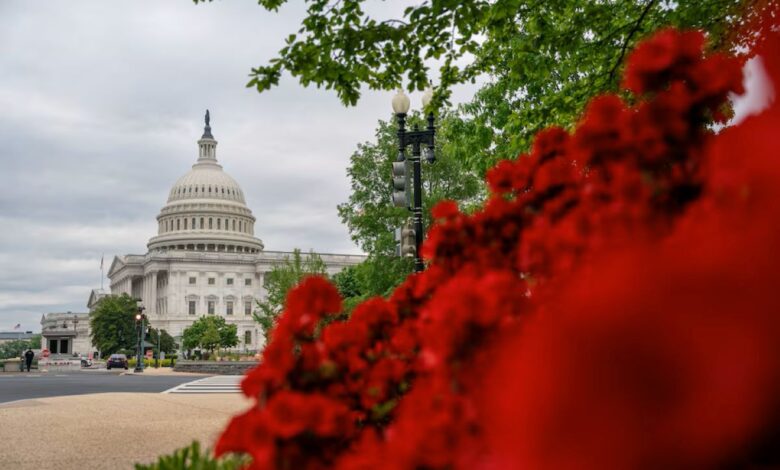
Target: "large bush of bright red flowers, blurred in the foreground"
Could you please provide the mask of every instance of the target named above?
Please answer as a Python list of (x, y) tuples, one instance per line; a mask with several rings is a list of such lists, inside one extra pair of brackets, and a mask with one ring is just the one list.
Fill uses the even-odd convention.
[(489, 172), (482, 210), (439, 204), (427, 270), (390, 300), (328, 324), (336, 289), (295, 288), (217, 453), (285, 469), (776, 458), (780, 116), (713, 133), (742, 64), (703, 45), (659, 32), (628, 60), (635, 104), (602, 96), (572, 133), (541, 132)]

